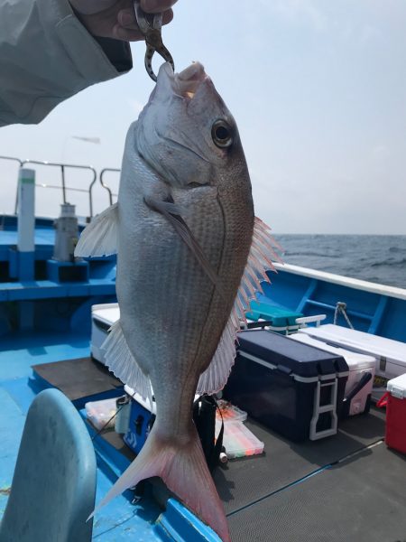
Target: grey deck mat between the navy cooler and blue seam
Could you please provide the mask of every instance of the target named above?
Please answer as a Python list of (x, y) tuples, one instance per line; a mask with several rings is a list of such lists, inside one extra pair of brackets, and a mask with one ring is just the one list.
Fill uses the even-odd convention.
[(254, 421), (246, 425), (263, 441), (265, 453), (230, 461), (226, 468), (216, 470), (214, 479), (226, 514), (382, 439), (384, 411), (373, 407), (370, 414), (339, 423), (337, 435), (301, 444), (291, 443)]

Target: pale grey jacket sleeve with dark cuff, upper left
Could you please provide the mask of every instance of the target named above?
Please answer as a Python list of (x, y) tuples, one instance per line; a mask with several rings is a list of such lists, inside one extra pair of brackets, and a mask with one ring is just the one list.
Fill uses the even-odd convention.
[[(125, 61), (110, 61), (101, 43), (115, 57), (121, 48)], [(68, 0), (0, 0), (0, 126), (38, 123), (62, 100), (129, 69), (128, 43), (93, 38)]]

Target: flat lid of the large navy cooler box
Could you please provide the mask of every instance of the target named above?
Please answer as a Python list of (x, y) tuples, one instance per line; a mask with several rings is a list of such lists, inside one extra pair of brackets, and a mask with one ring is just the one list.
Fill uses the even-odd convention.
[(293, 341), (279, 333), (250, 330), (238, 333), (237, 339), (237, 351), (271, 363), (287, 374), (311, 378), (348, 372), (342, 356)]

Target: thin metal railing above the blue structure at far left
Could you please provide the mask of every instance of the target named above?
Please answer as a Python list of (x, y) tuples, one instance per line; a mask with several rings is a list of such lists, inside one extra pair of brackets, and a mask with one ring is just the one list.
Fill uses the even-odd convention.
[[(106, 190), (110, 205), (113, 204), (113, 198), (117, 197), (117, 194), (111, 190), (111, 188), (106, 184), (106, 181), (105, 181), (106, 173), (120, 173), (121, 170), (116, 169), (116, 168), (106, 167), (100, 172), (99, 175), (97, 175), (97, 171), (91, 165), (62, 164), (59, 162), (48, 162), (48, 161), (42, 161), (42, 160), (20, 160), (19, 158), (14, 158), (13, 156), (1, 156), (1, 155), (0, 155), (0, 160), (15, 162), (19, 164), (19, 167), (23, 167), (26, 164), (33, 164), (33, 165), (42, 165), (42, 166), (47, 166), (47, 167), (59, 168), (60, 169), (60, 184), (48, 184), (48, 183), (43, 183), (43, 182), (36, 182), (35, 186), (61, 191), (63, 203), (67, 202), (67, 191), (87, 193), (90, 219), (93, 217), (93, 211), (94, 211), (93, 189), (97, 181), (100, 183), (101, 187), (104, 190)], [(82, 170), (82, 171), (85, 170), (85, 171), (90, 172), (91, 181), (88, 185), (88, 188), (75, 188), (72, 186), (68, 186), (66, 182), (66, 172), (69, 169)], [(17, 185), (17, 190), (15, 193), (14, 214), (17, 214), (17, 208), (18, 208), (18, 185)]]

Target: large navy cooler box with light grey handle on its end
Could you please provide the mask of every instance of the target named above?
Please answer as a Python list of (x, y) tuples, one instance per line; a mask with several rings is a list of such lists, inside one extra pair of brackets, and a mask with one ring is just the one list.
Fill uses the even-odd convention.
[(238, 334), (224, 397), (287, 438), (300, 442), (337, 433), (346, 360), (263, 330)]

